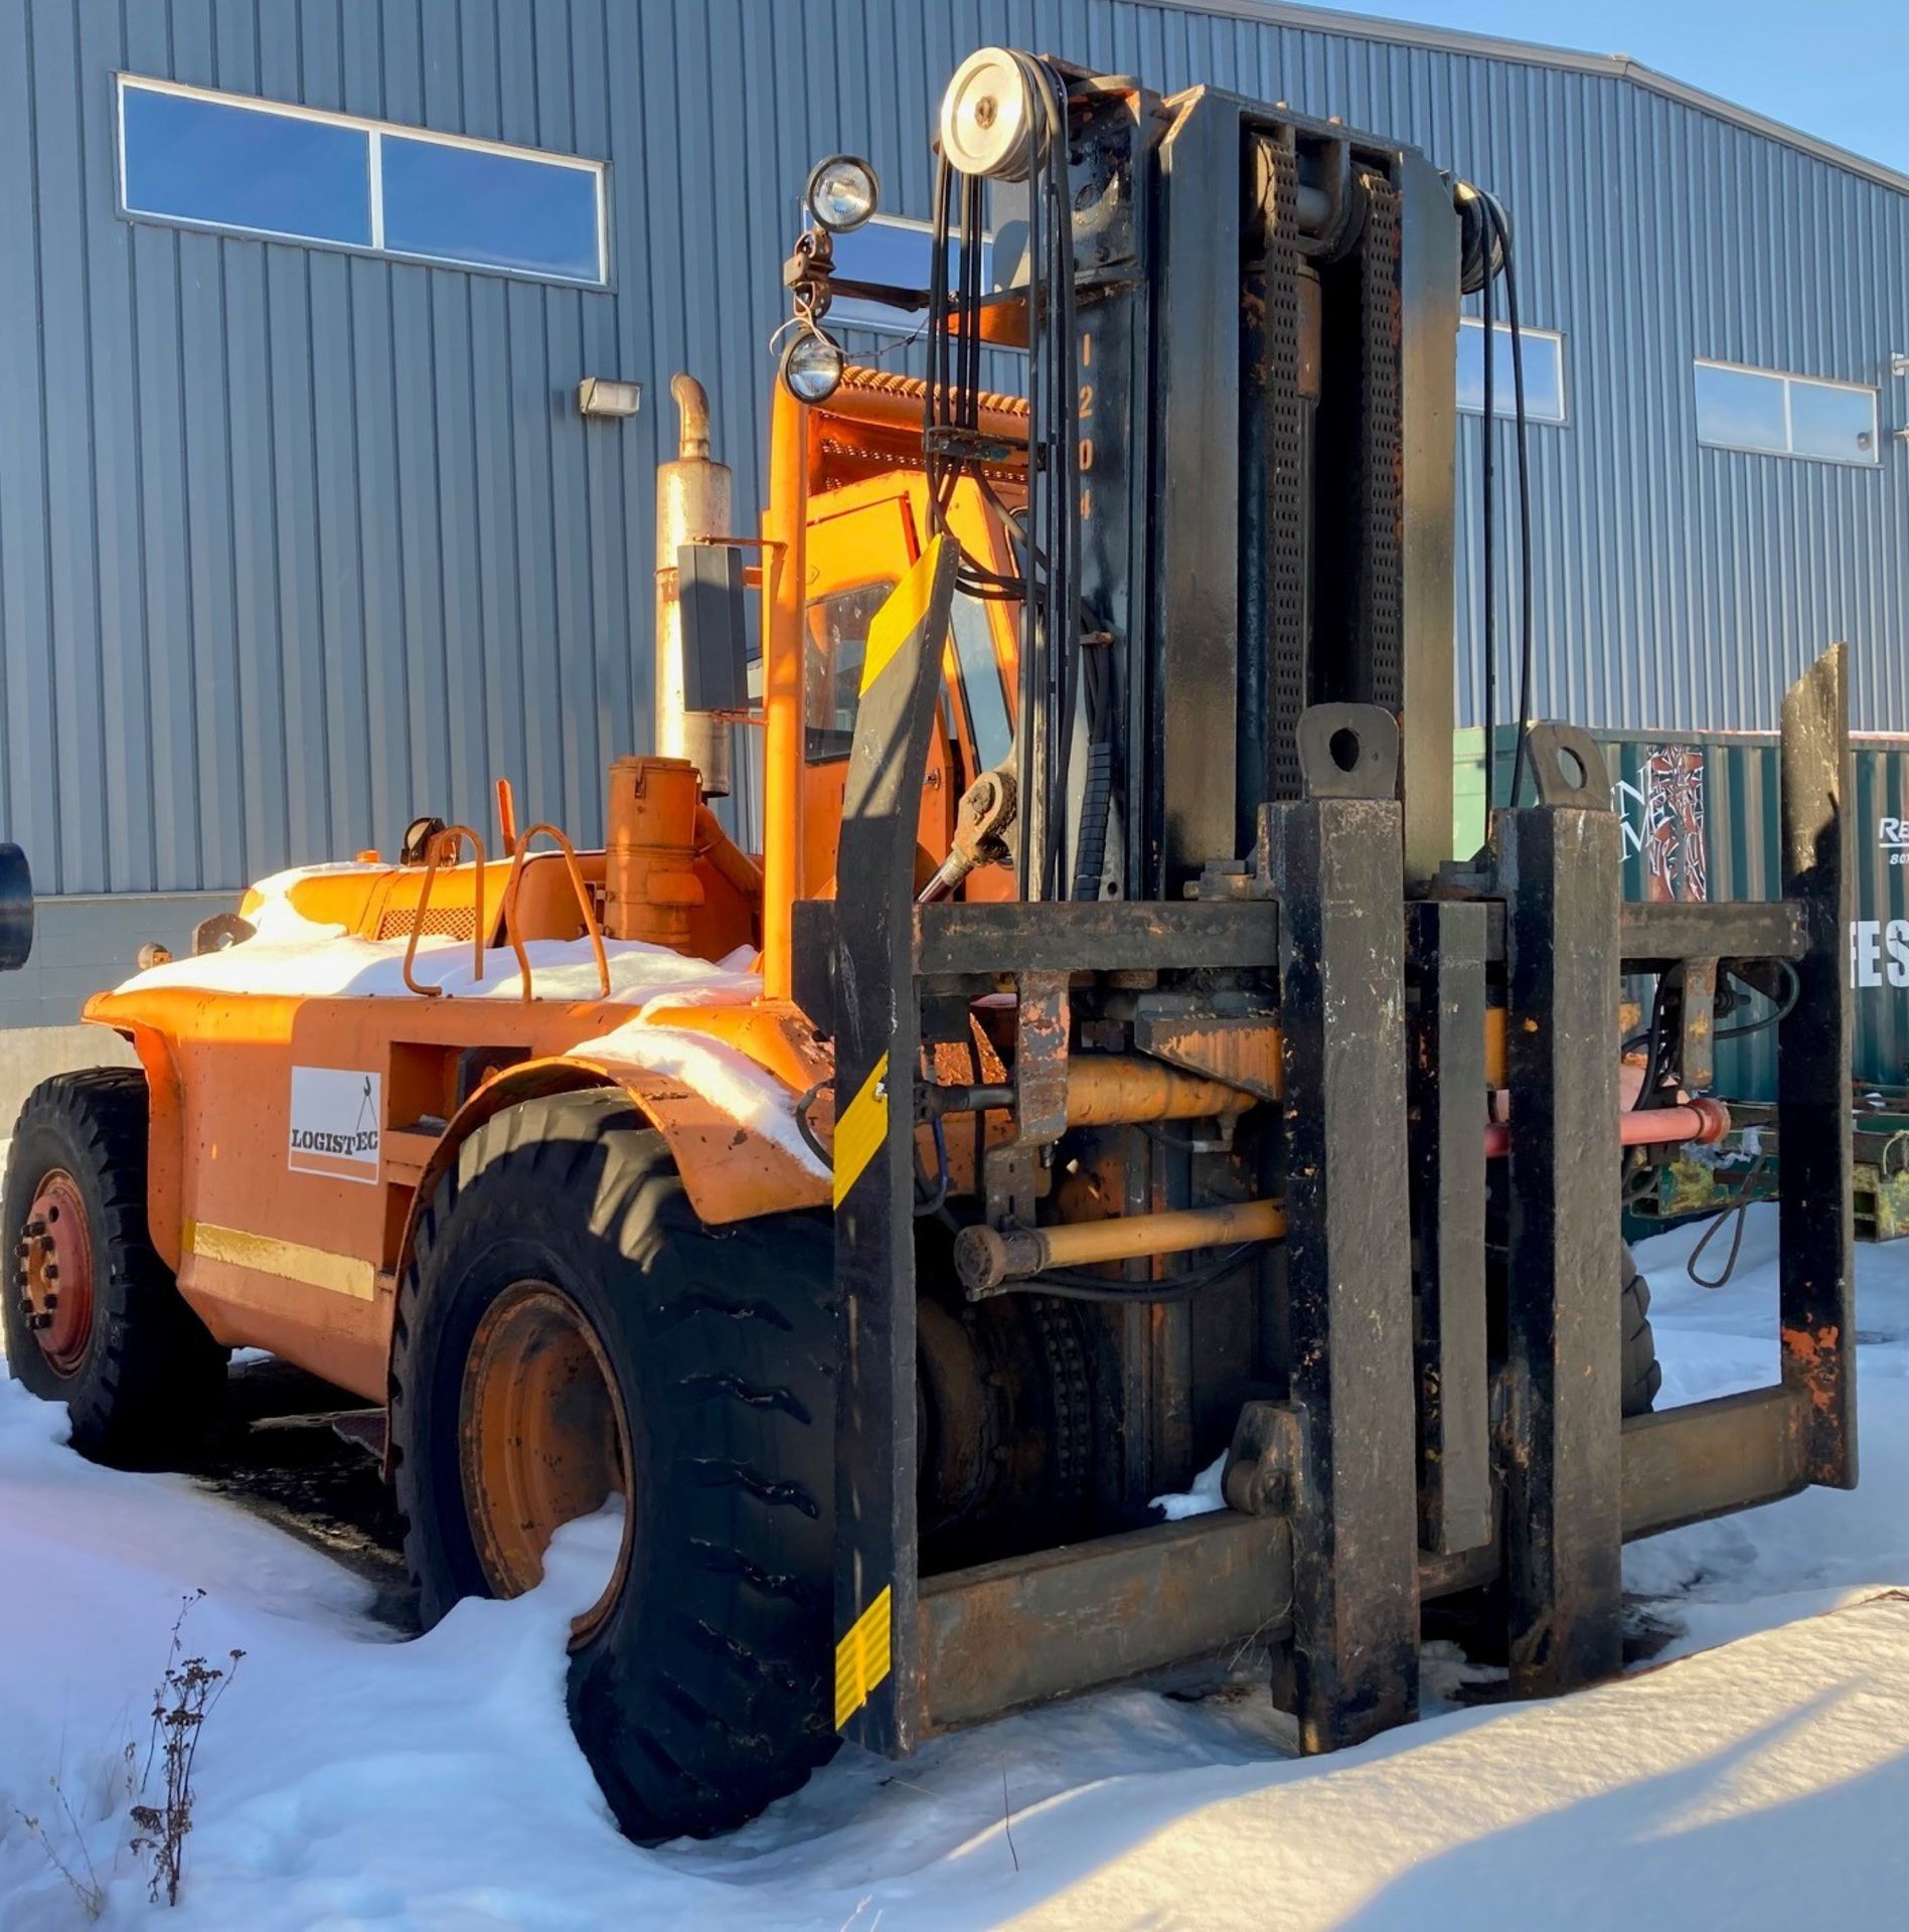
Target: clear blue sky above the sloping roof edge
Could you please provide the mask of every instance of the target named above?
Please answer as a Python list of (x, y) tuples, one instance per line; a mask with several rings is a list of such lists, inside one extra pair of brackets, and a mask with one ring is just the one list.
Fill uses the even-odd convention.
[(1366, 0), (1358, 10), (1631, 54), (1909, 174), (1905, 0), (1814, 0), (1801, 8), (1776, 0)]

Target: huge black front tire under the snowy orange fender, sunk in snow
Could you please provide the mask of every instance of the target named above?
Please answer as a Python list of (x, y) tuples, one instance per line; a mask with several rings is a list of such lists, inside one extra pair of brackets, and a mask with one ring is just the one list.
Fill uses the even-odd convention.
[(634, 1464), (630, 1561), (572, 1654), (572, 1725), (632, 1837), (728, 1830), (837, 1743), (829, 1225), (703, 1227), (622, 1095), (555, 1095), (477, 1128), (419, 1217), (392, 1347), (398, 1507), (427, 1625), (489, 1594), (460, 1391), (479, 1320), (526, 1279), (587, 1320)]

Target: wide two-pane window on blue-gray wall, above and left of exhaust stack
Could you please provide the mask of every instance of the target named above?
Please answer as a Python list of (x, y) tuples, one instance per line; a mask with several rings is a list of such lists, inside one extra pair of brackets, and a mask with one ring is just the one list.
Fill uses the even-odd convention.
[(120, 205), (543, 280), (609, 278), (603, 164), (120, 75)]

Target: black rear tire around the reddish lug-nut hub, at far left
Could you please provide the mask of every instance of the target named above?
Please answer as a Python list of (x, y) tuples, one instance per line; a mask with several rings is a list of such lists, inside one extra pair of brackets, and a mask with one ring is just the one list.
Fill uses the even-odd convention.
[[(50, 1175), (70, 1177), (91, 1254), (91, 1316), (58, 1368), (27, 1327), (23, 1304), (29, 1209)], [(4, 1331), (8, 1372), (35, 1395), (66, 1403), (71, 1443), (87, 1457), (153, 1468), (185, 1455), (218, 1416), (226, 1350), (185, 1306), (153, 1250), (145, 1219), (145, 1074), (95, 1066), (43, 1080), (19, 1111), (6, 1161)], [(71, 1296), (75, 1283), (66, 1283)]]

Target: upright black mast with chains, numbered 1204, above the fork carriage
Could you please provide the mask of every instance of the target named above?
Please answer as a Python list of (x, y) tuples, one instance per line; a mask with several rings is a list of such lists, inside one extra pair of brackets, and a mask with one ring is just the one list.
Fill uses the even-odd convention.
[[(1045, 611), (1034, 599), (1020, 788), (1036, 827), (1049, 800), (1068, 813), (1076, 864), (1067, 891), (1030, 896), (1177, 898), (1240, 858), (1260, 806), (1302, 796), (1295, 726), (1316, 703), (1407, 721), (1407, 877), (1430, 883), (1451, 848), (1451, 184), (1412, 149), (1239, 95), (1163, 102), (1045, 71), (1067, 141), (1034, 180), (995, 184), (995, 230), (1041, 243), (1018, 272), (1057, 319), (1032, 344), (1030, 522), (1070, 574)], [(949, 93), (972, 118), (1009, 83), (982, 56)], [(1022, 162), (962, 135), (954, 106), (945, 153)], [(1065, 232), (1043, 230), (1043, 187)], [(1076, 682), (1119, 694), (1097, 723), (1065, 715)], [(1061, 788), (1047, 740), (1067, 748)], [(1096, 881), (1078, 852), (1109, 767), (1130, 835)]]

